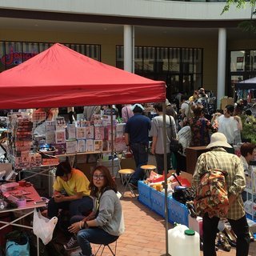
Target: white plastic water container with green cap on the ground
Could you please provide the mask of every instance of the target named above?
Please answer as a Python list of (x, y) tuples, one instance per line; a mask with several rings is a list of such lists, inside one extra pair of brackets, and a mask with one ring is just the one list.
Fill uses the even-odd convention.
[(171, 256), (199, 256), (200, 238), (198, 232), (185, 225), (168, 230), (168, 252)]

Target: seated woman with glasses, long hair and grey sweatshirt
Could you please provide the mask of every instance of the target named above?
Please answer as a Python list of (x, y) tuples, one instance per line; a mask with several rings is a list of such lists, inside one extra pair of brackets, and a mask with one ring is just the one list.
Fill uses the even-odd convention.
[(116, 194), (117, 186), (105, 166), (98, 166), (94, 170), (90, 190), (94, 197), (94, 210), (86, 218), (71, 218), (73, 224), (69, 230), (77, 236), (72, 237), (64, 246), (66, 250), (70, 250), (79, 245), (85, 256), (93, 255), (90, 242), (109, 244), (116, 241), (124, 230), (122, 205)]

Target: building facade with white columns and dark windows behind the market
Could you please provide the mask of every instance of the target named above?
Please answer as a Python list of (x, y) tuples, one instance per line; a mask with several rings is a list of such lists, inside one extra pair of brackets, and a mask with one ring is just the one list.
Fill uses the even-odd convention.
[[(199, 0), (198, 0), (199, 1)], [(54, 42), (166, 82), (166, 95), (204, 86), (218, 99), (256, 76), (256, 35), (238, 23), (250, 6), (164, 0), (0, 0), (0, 71)], [(63, 63), (65, 65), (65, 63)]]

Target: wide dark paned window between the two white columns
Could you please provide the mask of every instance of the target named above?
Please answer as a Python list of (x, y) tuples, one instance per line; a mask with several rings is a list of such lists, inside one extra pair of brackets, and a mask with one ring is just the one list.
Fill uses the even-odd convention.
[[(123, 46), (116, 46), (116, 63), (123, 66)], [(166, 95), (191, 94), (202, 86), (202, 55), (198, 48), (134, 47), (135, 74), (166, 82)]]

